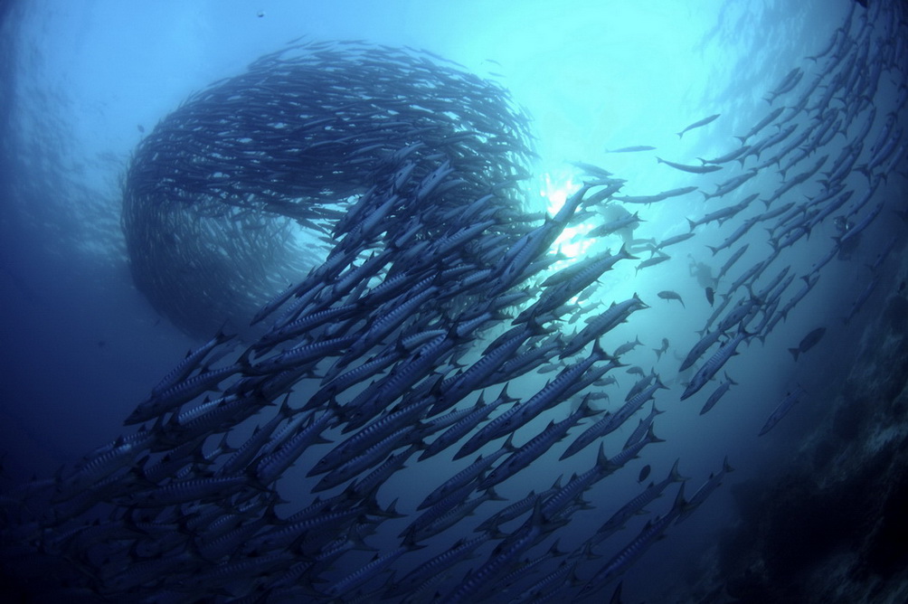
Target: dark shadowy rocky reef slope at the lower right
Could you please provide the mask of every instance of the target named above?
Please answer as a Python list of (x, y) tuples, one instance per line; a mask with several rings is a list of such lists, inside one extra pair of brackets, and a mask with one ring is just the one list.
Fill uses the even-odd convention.
[[(904, 264), (839, 382), (770, 486), (732, 485), (702, 602), (908, 601), (908, 293)], [(867, 309), (873, 312), (871, 309)], [(856, 352), (856, 353), (855, 353)]]

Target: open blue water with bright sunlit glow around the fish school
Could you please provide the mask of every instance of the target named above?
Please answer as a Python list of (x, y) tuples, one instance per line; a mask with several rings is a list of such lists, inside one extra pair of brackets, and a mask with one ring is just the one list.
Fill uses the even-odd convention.
[[(627, 179), (622, 194), (653, 194), (691, 183), (711, 191), (714, 183), (732, 175), (731, 168), (697, 176), (657, 164), (654, 153), (606, 151), (652, 145), (660, 157), (694, 164), (698, 157), (715, 157), (734, 148), (732, 136), (745, 134), (768, 112), (765, 93), (793, 67), (807, 72), (802, 86), (813, 79), (814, 64), (804, 57), (822, 50), (851, 4), (844, 0), (10, 3), (0, 9), (0, 451), (5, 476), (10, 483), (52, 476), (61, 465), (71, 465), (100, 443), (113, 440), (123, 433), (123, 418), (153, 384), (201, 343), (155, 312), (133, 286), (120, 226), (120, 187), (133, 149), (194, 91), (242, 73), (258, 56), (301, 35), (410, 46), (495, 79), (532, 116), (538, 160), (528, 184), (528, 204), (537, 211), (554, 211), (577, 189), (583, 176), (571, 161), (601, 165)], [(881, 84), (874, 99), (877, 106), (898, 96), (904, 79), (893, 83), (894, 77)], [(881, 124), (883, 113), (878, 110), (875, 124)], [(710, 114), (721, 116), (684, 137), (676, 135)], [(862, 121), (859, 117), (855, 124)], [(868, 146), (876, 132), (874, 126)], [(834, 161), (841, 145), (840, 140), (830, 144), (828, 162)], [(812, 155), (790, 174), (814, 162)], [(864, 183), (859, 183), (863, 177), (850, 178), (858, 188), (856, 199), (863, 194)], [(746, 188), (765, 197), (779, 183), (775, 171), (765, 171)], [(714, 258), (705, 243), (721, 243), (729, 228), (700, 227), (695, 238), (666, 250), (671, 262), (638, 273), (625, 266), (607, 275), (597, 294), (602, 302), (625, 300), (637, 292), (650, 306), (611, 332), (609, 347), (635, 337), (644, 342), (622, 361), (646, 371), (653, 368), (670, 387), (656, 394), (656, 406), (666, 411), (656, 420), (656, 434), (666, 443), (647, 447), (627, 469), (587, 492), (585, 499), (595, 510), (580, 512), (586, 515), (558, 531), (562, 550), (577, 547), (589, 530), (637, 494), (641, 489), (637, 473), (645, 464), (653, 468), (651, 479), (660, 480), (680, 458), (681, 472), (691, 479), (686, 485), (689, 494), (720, 470), (727, 456), (735, 472), (724, 486), (690, 520), (671, 528), (668, 538), (624, 577), (626, 601), (692, 597), (692, 586), (709, 565), (704, 560), (711, 559), (720, 535), (738, 521), (732, 487), (759, 485), (785, 467), (804, 435), (828, 412), (827, 401), (854, 361), (865, 323), (879, 314), (883, 294), (866, 302), (851, 322), (841, 321), (869, 282), (864, 264), (873, 263), (891, 236), (903, 238), (904, 225), (892, 218), (890, 210), (898, 207), (904, 188), (901, 175), (887, 181), (885, 193), (864, 208), (865, 213), (877, 199), (895, 200), (888, 202), (893, 207), (883, 211), (885, 218), (869, 227), (849, 260), (834, 260), (824, 268), (814, 291), (776, 325), (763, 345), (752, 342), (729, 361), (725, 370), (739, 385), (703, 416), (698, 411), (712, 384), (696, 398), (678, 401), (683, 385), (677, 363), (696, 342), (694, 332), (711, 312), (702, 285), (688, 271), (688, 254), (715, 273), (728, 252)], [(716, 200), (710, 203), (694, 193), (630, 207), (646, 218), (634, 236), (663, 240), (686, 233), (686, 218), (719, 207)], [(586, 252), (582, 233), (582, 228), (568, 233), (575, 238), (559, 243), (561, 251), (570, 257)], [(798, 276), (810, 272), (830, 249), (834, 234), (831, 220), (825, 221), (806, 242), (797, 243), (767, 269), (763, 282), (786, 264)], [(760, 246), (762, 237), (754, 234), (742, 240), (754, 243), (735, 264), (733, 279), (771, 252)], [(901, 244), (896, 247), (902, 249)], [(646, 254), (641, 256), (645, 258)], [(899, 252), (894, 252), (883, 264), (878, 292), (892, 289), (888, 284), (900, 270), (900, 260)], [(797, 279), (787, 293), (802, 283)], [(656, 292), (664, 290), (678, 292), (685, 307), (657, 298)], [(569, 333), (582, 324), (565, 329)], [(827, 328), (824, 339), (795, 363), (785, 349), (796, 347), (819, 326)], [(653, 349), (662, 338), (670, 347), (657, 359)], [(619, 386), (610, 392), (612, 401), (620, 401), (636, 376), (615, 374)], [(528, 397), (552, 375), (523, 378), (512, 385), (510, 394)], [(804, 401), (774, 431), (757, 438), (766, 417), (796, 384), (808, 392)], [(564, 419), (567, 407), (533, 425), (538, 424), (538, 431), (549, 419)], [(649, 408), (647, 403), (609, 437), (609, 455), (619, 451), (637, 418)], [(571, 434), (579, 431), (575, 428)], [(410, 499), (473, 457), (458, 463), (411, 460), (410, 468), (386, 485), (380, 504), (387, 506), (400, 497), (398, 510), (412, 511)], [(567, 480), (571, 472), (589, 467), (593, 447), (565, 462), (557, 459), (556, 454), (539, 460), (532, 471), (501, 485), (499, 495), (518, 500), (530, 489), (548, 488), (559, 475)], [(577, 573), (581, 579), (588, 579), (607, 556), (633, 539), (647, 519), (665, 513), (675, 489), (666, 490), (649, 507), (649, 515), (632, 520), (609, 540), (600, 551), (606, 558), (581, 567)], [(304, 489), (288, 483), (286, 490), (299, 498), (297, 508), (305, 505)], [(292, 509), (288, 506), (286, 513)], [(480, 508), (476, 518), (485, 518), (491, 509)], [(470, 522), (475, 524), (476, 518)], [(408, 569), (421, 561), (416, 557), (428, 558), (449, 547), (459, 530), (435, 538), (427, 550), (401, 558), (399, 568)], [(471, 530), (472, 525), (463, 535), (471, 535)], [(396, 533), (381, 534), (374, 544), (392, 550)], [(548, 542), (534, 551), (541, 555), (546, 549)], [(354, 552), (341, 559), (331, 578), (339, 579), (371, 556)], [(475, 568), (483, 559), (485, 554), (456, 573), (470, 564)], [(611, 589), (599, 597), (607, 599)]]

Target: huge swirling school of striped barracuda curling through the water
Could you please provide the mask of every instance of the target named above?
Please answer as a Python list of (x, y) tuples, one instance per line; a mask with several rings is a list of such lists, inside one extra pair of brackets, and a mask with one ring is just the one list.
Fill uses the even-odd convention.
[[(621, 574), (732, 466), (716, 460), (690, 486), (678, 451), (607, 518), (597, 483), (665, 442), (656, 424), (681, 401), (721, 405), (732, 357), (765, 341), (827, 263), (873, 245), (860, 235), (875, 220), (908, 218), (883, 194), (905, 176), (906, 20), (901, 3), (854, 9), (740, 144), (729, 133), (727, 153), (699, 163), (654, 156), (689, 186), (621, 195), (624, 180), (577, 163), (583, 183), (551, 215), (521, 210), (528, 119), (498, 84), (432, 55), (301, 43), (193, 95), (134, 154), (123, 228), (155, 308), (191, 332), (231, 321), (153, 386), (131, 431), (3, 494), (0, 559), (44, 601), (604, 601), (603, 589), (619, 601)], [(722, 115), (677, 134), (707, 124)], [(772, 171), (775, 189), (748, 188)], [(704, 213), (690, 233), (630, 236), (651, 204), (693, 195)], [(711, 223), (718, 240), (697, 233)], [(577, 227), (592, 245), (568, 262), (555, 243)], [(828, 245), (798, 274), (793, 254), (821, 231)], [(692, 238), (724, 259), (705, 288), (712, 315), (689, 351), (652, 349), (680, 354), (673, 375), (635, 367), (619, 391), (641, 342), (610, 332), (692, 304), (643, 281), (608, 300), (599, 280), (686, 262), (669, 247)], [(739, 265), (755, 241), (767, 252)], [(896, 243), (878, 246), (846, 321)], [(583, 303), (594, 293), (610, 303)], [(243, 316), (253, 325), (237, 337)], [(835, 329), (798, 334), (790, 361)], [(666, 386), (677, 371), (683, 391)], [(523, 392), (535, 373), (551, 376)], [(805, 396), (798, 386), (759, 433)], [(585, 471), (501, 496), (575, 456)], [(666, 491), (660, 515), (618, 533)], [(577, 523), (585, 540), (559, 540)]]

